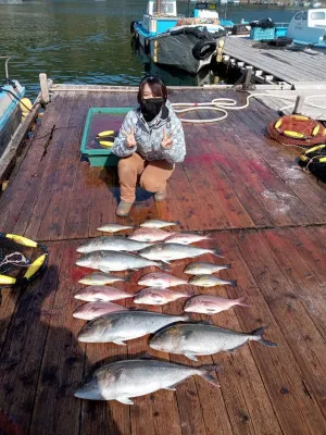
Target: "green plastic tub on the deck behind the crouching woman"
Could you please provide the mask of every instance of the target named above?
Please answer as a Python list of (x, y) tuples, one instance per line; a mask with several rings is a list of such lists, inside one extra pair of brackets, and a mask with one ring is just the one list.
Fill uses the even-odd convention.
[[(87, 157), (91, 166), (116, 166), (118, 157), (112, 153), (112, 148), (101, 147), (96, 136), (103, 130), (114, 130), (118, 134), (122, 122), (131, 108), (91, 108), (88, 111), (80, 151)], [(113, 138), (109, 139), (113, 140)]]

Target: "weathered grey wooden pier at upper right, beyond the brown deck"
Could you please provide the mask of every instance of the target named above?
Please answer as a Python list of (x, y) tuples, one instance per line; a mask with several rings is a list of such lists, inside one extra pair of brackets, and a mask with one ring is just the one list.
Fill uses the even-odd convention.
[(251, 39), (228, 36), (223, 53), (292, 86), (326, 80), (326, 57), (315, 50), (273, 49)]

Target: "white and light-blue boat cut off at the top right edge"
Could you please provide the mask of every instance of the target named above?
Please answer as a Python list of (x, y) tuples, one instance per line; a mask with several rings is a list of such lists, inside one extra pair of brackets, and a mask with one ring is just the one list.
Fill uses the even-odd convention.
[(326, 48), (326, 8), (297, 12), (288, 26), (287, 37), (294, 44)]

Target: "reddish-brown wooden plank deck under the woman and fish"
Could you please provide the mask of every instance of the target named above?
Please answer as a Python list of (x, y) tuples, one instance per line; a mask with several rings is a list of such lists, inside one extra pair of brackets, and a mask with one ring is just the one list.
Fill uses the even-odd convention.
[[(244, 95), (171, 91), (178, 102), (217, 97)], [(55, 94), (11, 174), (0, 199), (1, 231), (45, 241), (50, 261), (25, 291), (2, 289), (0, 409), (30, 435), (325, 434), (325, 185), (299, 169), (300, 151), (264, 136), (277, 114), (252, 101), (218, 124), (185, 125), (187, 158), (168, 183), (166, 202), (155, 204), (139, 190), (130, 217), (118, 220), (115, 171), (89, 167), (78, 149), (90, 107), (129, 107), (135, 100), (134, 91)], [(176, 393), (136, 398), (133, 407), (80, 401), (74, 388), (93, 366), (145, 352), (170, 358), (150, 350), (148, 337), (126, 347), (79, 344), (84, 322), (72, 316), (80, 304), (73, 293), (86, 273), (74, 265), (76, 247), (99, 235), (102, 223), (138, 225), (148, 217), (212, 232), (206, 246), (221, 247), (231, 264), (221, 276), (238, 286), (204, 293), (247, 296), (250, 303), (213, 321), (246, 332), (267, 325), (266, 338), (278, 347), (251, 343), (234, 355), (200, 357), (193, 364), (221, 364), (221, 388), (193, 377)], [(172, 273), (186, 277), (186, 263), (175, 262)], [(136, 293), (145, 272), (134, 273), (124, 288)], [(181, 308), (173, 302), (162, 310)], [(171, 360), (189, 364), (177, 356)], [(4, 419), (0, 412), (0, 433)]]

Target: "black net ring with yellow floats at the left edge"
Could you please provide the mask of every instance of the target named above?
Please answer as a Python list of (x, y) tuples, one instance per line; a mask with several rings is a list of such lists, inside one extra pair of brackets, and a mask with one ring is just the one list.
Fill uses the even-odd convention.
[(48, 256), (42, 244), (0, 233), (0, 287), (26, 285), (45, 270)]

